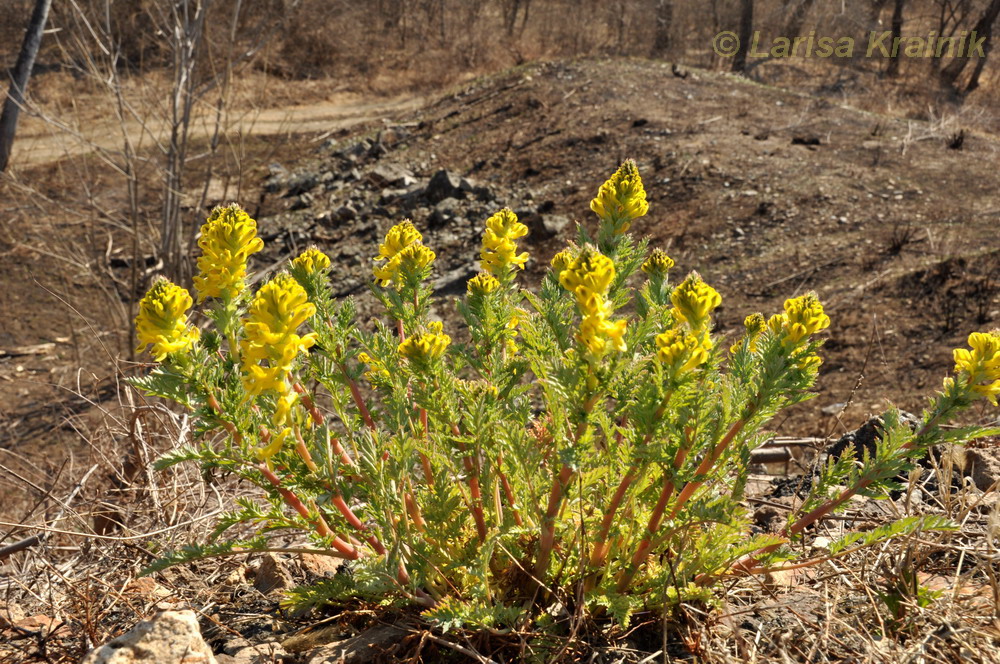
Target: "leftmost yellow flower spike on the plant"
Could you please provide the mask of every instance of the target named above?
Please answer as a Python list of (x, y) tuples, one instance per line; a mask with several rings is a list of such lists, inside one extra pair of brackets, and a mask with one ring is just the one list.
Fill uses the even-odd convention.
[(187, 310), (193, 301), (191, 294), (167, 279), (157, 279), (146, 296), (139, 301), (135, 318), (139, 337), (137, 353), (152, 346), (150, 353), (157, 362), (171, 353), (180, 353), (198, 340), (198, 328), (187, 324)]

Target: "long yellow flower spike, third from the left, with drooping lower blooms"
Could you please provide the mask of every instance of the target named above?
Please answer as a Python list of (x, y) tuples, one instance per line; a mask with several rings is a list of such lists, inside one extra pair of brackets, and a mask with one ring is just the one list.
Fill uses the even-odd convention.
[(296, 356), (316, 342), (315, 333), (297, 333), (314, 313), (316, 307), (290, 275), (279, 274), (261, 286), (247, 312), (243, 326), (246, 336), (240, 342), (243, 384), (248, 394), (267, 390), (279, 395), (288, 393), (288, 374)]

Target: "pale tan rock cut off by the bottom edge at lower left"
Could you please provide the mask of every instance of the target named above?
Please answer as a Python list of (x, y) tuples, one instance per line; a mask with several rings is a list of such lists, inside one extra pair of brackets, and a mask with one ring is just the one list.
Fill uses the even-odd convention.
[(91, 650), (80, 664), (217, 664), (201, 638), (194, 611), (164, 611), (144, 620), (106, 645)]

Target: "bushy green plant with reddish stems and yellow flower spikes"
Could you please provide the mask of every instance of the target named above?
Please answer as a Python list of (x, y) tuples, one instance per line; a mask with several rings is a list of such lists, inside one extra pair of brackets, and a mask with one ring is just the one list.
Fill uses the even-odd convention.
[[(693, 272), (674, 284), (674, 261), (630, 232), (648, 209), (633, 162), (591, 209), (596, 234), (581, 226), (533, 289), (518, 283), (527, 228), (506, 209), (486, 220), (457, 341), (430, 317), (436, 256), (413, 223), (377, 248), (372, 292), (386, 318), (366, 330), (352, 301), (333, 297), (335, 266), (317, 249), (252, 292), (256, 224), (236, 206), (213, 212), (195, 283), (214, 325), (199, 337), (191, 296), (157, 282), (136, 320), (157, 364), (135, 383), (197, 420), (197, 438), (161, 468), (195, 461), (261, 494), (153, 569), (312, 550), (352, 561), (352, 573), (293, 591), (300, 608), (397, 598), (445, 627), (497, 626), (582, 591), (591, 610), (626, 622), (641, 607), (711, 602), (728, 575), (798, 559), (804, 530), (852, 496), (885, 495), (928, 446), (985, 431), (942, 425), (995, 403), (997, 333), (955, 352), (919, 426), (890, 410), (874, 452), (829, 463), (780, 532), (752, 536), (750, 453), (778, 412), (811, 396), (830, 319), (806, 293), (748, 316), (723, 344), (720, 293)], [(848, 535), (830, 555), (947, 527), (911, 518)]]

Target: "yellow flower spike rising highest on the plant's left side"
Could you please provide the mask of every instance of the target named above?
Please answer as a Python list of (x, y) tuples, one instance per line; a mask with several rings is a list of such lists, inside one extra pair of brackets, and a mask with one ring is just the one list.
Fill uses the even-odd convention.
[(201, 227), (201, 256), (194, 287), (198, 301), (208, 297), (233, 298), (246, 288), (247, 260), (264, 248), (257, 222), (239, 205), (217, 207)]

